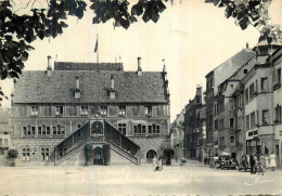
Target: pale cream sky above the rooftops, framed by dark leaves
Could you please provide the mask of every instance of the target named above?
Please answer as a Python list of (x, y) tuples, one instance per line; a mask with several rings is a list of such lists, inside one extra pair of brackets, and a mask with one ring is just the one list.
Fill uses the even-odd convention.
[[(55, 39), (36, 40), (29, 52), (25, 70), (46, 70), (47, 56), (57, 62), (95, 63), (93, 53), (99, 35), (99, 62), (121, 62), (125, 70), (137, 70), (137, 58), (141, 57), (143, 71), (168, 73), (170, 92), (170, 121), (176, 119), (189, 100), (195, 95), (196, 87), (205, 90), (205, 76), (215, 67), (233, 56), (249, 43), (256, 45), (259, 32), (249, 26), (242, 30), (233, 18), (225, 17), (219, 9), (205, 0), (175, 0), (161, 13), (159, 21), (144, 23), (142, 18), (126, 30), (114, 29), (113, 21), (93, 25), (93, 12), (89, 9), (82, 19), (69, 17), (68, 27)], [(22, 0), (25, 2), (25, 0)], [(46, 1), (44, 1), (46, 2)], [(130, 0), (136, 2), (136, 0)], [(35, 6), (41, 4), (35, 4)], [(24, 11), (24, 10), (22, 10)], [(21, 12), (22, 12), (21, 11)], [(282, 1), (273, 0), (269, 14), (274, 24), (282, 26)], [(120, 56), (120, 60), (119, 60)], [(5, 94), (11, 94), (12, 80), (0, 81)], [(10, 100), (2, 105), (10, 107)]]

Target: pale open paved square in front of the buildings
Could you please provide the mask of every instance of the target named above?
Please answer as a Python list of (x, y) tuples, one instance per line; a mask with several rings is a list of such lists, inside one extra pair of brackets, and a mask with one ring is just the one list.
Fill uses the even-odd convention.
[(185, 166), (0, 168), (0, 195), (241, 195), (281, 194), (282, 171), (251, 175)]

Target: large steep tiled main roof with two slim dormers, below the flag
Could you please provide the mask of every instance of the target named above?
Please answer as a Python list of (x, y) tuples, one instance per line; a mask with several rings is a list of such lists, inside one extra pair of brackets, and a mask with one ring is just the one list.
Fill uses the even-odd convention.
[[(111, 76), (116, 97), (110, 100)], [(80, 99), (75, 99), (76, 77)], [(163, 73), (53, 70), (23, 71), (15, 84), (14, 103), (167, 103)]]

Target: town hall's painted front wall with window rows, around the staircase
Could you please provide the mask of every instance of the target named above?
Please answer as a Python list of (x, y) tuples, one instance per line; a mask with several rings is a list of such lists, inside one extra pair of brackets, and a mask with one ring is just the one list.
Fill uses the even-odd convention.
[[(72, 105), (63, 105), (63, 115), (55, 116), (55, 104), (39, 105), (38, 116), (30, 116), (31, 105), (30, 104), (14, 104), (13, 105), (13, 117), (11, 119), (13, 129), (13, 142), (12, 146), (17, 148), (20, 152), (18, 160), (23, 160), (24, 148), (29, 148), (29, 161), (42, 161), (41, 148), (49, 148), (49, 156), (53, 153), (53, 147), (59, 144), (62, 140), (67, 138), (69, 134), (78, 129), (78, 125), (84, 125), (89, 118), (94, 117), (99, 112), (99, 107), (92, 107), (88, 105), (88, 115), (80, 115), (80, 106), (75, 105), (76, 116), (70, 116), (68, 109)], [(125, 104), (120, 104), (125, 105)], [(145, 115), (145, 106), (152, 106), (152, 114)], [(51, 106), (51, 107), (50, 107)], [(46, 109), (51, 110), (50, 116), (46, 116)], [(50, 114), (50, 113), (49, 113)], [(107, 105), (107, 115), (103, 116), (103, 119), (111, 122), (118, 129), (118, 123), (126, 123), (126, 135), (137, 141), (143, 152), (142, 157), (149, 149), (155, 152), (162, 152), (163, 146), (167, 147), (167, 136), (169, 135), (169, 113), (167, 104), (136, 104), (126, 105), (126, 115), (119, 115), (119, 105), (110, 104)], [(53, 127), (60, 125), (64, 129), (64, 134), (53, 135)], [(133, 126), (142, 125), (145, 126), (145, 133), (142, 135), (136, 135)], [(149, 126), (159, 126), (159, 134), (150, 134)], [(35, 127), (35, 134), (24, 135), (23, 127), (30, 126), (30, 129)], [(39, 127), (50, 127), (50, 135), (40, 136)], [(161, 154), (161, 153), (159, 153)], [(145, 162), (145, 159), (144, 159)]]

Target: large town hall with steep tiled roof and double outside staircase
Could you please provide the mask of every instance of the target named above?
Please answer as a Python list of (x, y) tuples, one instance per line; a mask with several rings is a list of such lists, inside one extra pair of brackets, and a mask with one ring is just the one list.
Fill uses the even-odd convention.
[(92, 141), (94, 148), (90, 138), (101, 133), (116, 156), (149, 162), (168, 146), (169, 105), (165, 67), (142, 71), (138, 58), (137, 71), (119, 63), (55, 62), (52, 69), (49, 58), (46, 71), (24, 71), (15, 82), (12, 145), (18, 162), (48, 164), (81, 157), (79, 145)]

